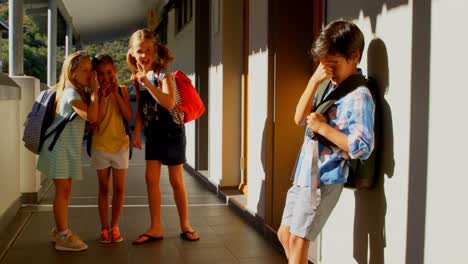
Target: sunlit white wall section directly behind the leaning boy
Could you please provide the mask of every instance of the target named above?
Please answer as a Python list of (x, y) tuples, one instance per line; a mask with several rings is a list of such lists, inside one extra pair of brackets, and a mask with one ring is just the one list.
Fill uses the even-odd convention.
[[(328, 22), (338, 17), (351, 17), (361, 28), (366, 39), (366, 48), (363, 52), (361, 67), (366, 74), (372, 69), (368, 69), (367, 48), (374, 39), (380, 39), (383, 49), (388, 57), (388, 81), (381, 81), (381, 84), (388, 83), (385, 99), (391, 110), (391, 122), (393, 126), (393, 157), (395, 167), (392, 175), (386, 175), (384, 189), (380, 194), (357, 195), (350, 190), (343, 192), (340, 201), (327, 222), (321, 241), (321, 263), (355, 263), (354, 257), (361, 258), (366, 254), (375, 257), (369, 263), (405, 263), (406, 257), (406, 236), (407, 236), (407, 216), (408, 216), (408, 179), (409, 179), (409, 151), (410, 151), (410, 113), (411, 113), (411, 49), (412, 49), (412, 5), (404, 3), (387, 8), (385, 4), (371, 9), (367, 1), (350, 1), (343, 5), (342, 1), (327, 1)], [(352, 10), (358, 13), (353, 13)], [(360, 10), (359, 10), (360, 9)], [(349, 11), (348, 11), (349, 10)], [(385, 76), (385, 74), (384, 74)], [(380, 76), (377, 76), (380, 77)], [(391, 177), (391, 178), (390, 178)], [(366, 208), (359, 211), (355, 207), (355, 197), (372, 199), (375, 195), (381, 200), (376, 208)], [(381, 196), (383, 195), (383, 196)], [(372, 204), (366, 201), (364, 204)], [(371, 210), (375, 212), (374, 217), (380, 218), (383, 222), (377, 226), (378, 230), (369, 231), (381, 232), (380, 236), (374, 237), (377, 241), (360, 241), (356, 244), (355, 212)], [(360, 216), (357, 216), (360, 217)], [(362, 218), (371, 216), (362, 216)], [(379, 220), (379, 221), (381, 221)], [(366, 221), (374, 221), (367, 219)], [(362, 235), (362, 234), (361, 234)], [(365, 235), (365, 234), (364, 234)], [(367, 238), (367, 236), (365, 236)], [(380, 240), (380, 241), (379, 241)], [(377, 246), (376, 246), (377, 244)], [(337, 250), (340, 254), (337, 254)], [(356, 253), (356, 251), (358, 253)], [(376, 256), (377, 255), (377, 256)], [(354, 257), (353, 257), (354, 256)], [(359, 259), (359, 258), (358, 258)], [(367, 263), (367, 262), (360, 262)]]

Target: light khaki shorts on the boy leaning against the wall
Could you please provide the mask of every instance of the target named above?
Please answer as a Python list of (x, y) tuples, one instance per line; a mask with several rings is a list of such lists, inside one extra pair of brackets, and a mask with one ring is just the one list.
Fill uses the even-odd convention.
[(335, 208), (343, 184), (321, 185), (317, 189), (317, 209), (312, 208), (310, 187), (293, 185), (286, 196), (281, 225), (289, 226), (289, 232), (313, 241), (322, 230)]

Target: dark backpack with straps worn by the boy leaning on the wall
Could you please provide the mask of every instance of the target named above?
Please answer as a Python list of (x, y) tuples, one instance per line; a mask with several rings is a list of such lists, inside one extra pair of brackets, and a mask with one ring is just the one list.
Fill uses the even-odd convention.
[[(351, 75), (348, 79), (344, 80), (339, 88), (332, 91), (326, 98), (323, 98), (326, 94), (326, 90), (330, 86), (330, 81), (322, 83), (317, 90), (317, 104), (314, 106), (314, 111), (321, 115), (326, 116), (326, 112), (330, 109), (334, 103), (340, 98), (354, 91), (356, 88), (365, 86), (369, 89), (372, 94), (372, 98), (375, 104), (375, 115), (374, 115), (374, 150), (366, 160), (360, 159), (349, 159), (349, 175), (345, 183), (345, 187), (351, 189), (371, 189), (375, 186), (378, 175), (379, 167), (379, 147), (380, 147), (380, 107), (378, 105), (376, 95), (376, 82), (372, 78), (366, 78), (361, 74)], [(318, 140), (321, 144), (334, 147), (331, 141), (319, 134), (313, 134), (313, 139)]]

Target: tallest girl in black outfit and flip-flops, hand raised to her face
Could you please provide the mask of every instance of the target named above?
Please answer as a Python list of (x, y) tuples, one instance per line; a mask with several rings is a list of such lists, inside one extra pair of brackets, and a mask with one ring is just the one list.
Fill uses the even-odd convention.
[(148, 29), (138, 30), (130, 37), (127, 63), (132, 70), (137, 94), (137, 114), (133, 145), (142, 147), (140, 132), (145, 135), (145, 179), (151, 215), (150, 227), (133, 244), (140, 245), (163, 239), (161, 226), (161, 165), (167, 165), (169, 180), (180, 221), (180, 237), (188, 241), (200, 239), (189, 224), (187, 191), (183, 179), (185, 158), (185, 128), (183, 113), (176, 105), (175, 80), (168, 71), (174, 60), (169, 49), (156, 42)]

